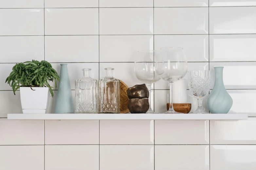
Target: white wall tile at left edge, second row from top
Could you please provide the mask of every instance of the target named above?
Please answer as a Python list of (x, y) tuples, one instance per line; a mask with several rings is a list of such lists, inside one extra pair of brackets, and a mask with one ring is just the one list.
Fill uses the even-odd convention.
[(0, 35), (44, 35), (44, 9), (0, 9)]

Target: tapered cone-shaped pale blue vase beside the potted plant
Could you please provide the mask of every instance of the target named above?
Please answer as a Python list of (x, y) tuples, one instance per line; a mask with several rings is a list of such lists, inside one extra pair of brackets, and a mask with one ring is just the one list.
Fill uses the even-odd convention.
[(61, 64), (55, 113), (74, 113), (73, 97), (71, 93), (67, 64)]

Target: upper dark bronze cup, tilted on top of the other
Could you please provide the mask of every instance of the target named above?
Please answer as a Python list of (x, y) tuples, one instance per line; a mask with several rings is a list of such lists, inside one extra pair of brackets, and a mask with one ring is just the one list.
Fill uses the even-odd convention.
[(143, 99), (149, 97), (149, 91), (146, 84), (135, 85), (127, 89), (129, 99)]

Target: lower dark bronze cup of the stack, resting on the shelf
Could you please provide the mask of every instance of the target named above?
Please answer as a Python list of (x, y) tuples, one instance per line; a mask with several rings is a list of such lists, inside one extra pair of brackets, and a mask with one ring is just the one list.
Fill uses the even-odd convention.
[(149, 109), (148, 98), (128, 99), (128, 109), (131, 113), (146, 113)]

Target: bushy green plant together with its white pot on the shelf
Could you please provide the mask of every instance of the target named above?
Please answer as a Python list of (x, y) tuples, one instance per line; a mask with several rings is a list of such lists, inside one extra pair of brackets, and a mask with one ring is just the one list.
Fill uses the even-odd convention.
[(50, 63), (32, 60), (15, 64), (5, 82), (12, 87), (14, 95), (20, 88), (23, 113), (46, 113), (50, 93), (53, 97), (49, 81), (55, 82), (56, 89), (56, 79), (59, 81), (59, 75)]

